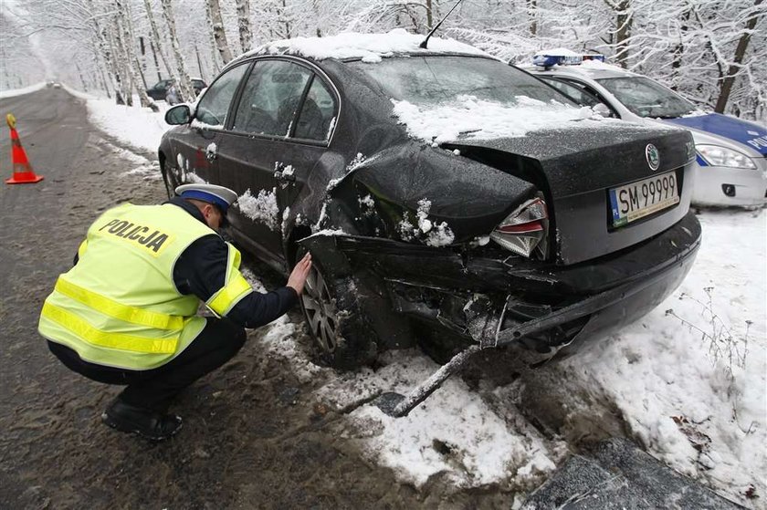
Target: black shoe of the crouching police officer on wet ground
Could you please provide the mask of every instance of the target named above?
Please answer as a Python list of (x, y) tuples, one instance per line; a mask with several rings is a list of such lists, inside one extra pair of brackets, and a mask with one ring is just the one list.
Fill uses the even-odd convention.
[(131, 432), (150, 441), (163, 441), (181, 430), (181, 416), (163, 414), (115, 399), (101, 414), (101, 422), (121, 432)]

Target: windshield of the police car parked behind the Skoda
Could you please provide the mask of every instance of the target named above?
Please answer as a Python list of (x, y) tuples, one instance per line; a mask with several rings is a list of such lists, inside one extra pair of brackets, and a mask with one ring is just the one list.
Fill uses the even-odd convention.
[(639, 117), (673, 119), (696, 110), (687, 99), (650, 78), (598, 78), (596, 81)]

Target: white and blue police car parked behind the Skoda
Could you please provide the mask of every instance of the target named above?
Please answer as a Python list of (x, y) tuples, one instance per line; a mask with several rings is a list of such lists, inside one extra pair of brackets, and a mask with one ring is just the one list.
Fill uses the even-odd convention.
[(605, 64), (602, 55), (562, 48), (543, 51), (525, 70), (607, 117), (671, 123), (690, 130), (699, 164), (693, 203), (767, 203), (767, 129), (763, 126), (706, 113), (657, 81)]

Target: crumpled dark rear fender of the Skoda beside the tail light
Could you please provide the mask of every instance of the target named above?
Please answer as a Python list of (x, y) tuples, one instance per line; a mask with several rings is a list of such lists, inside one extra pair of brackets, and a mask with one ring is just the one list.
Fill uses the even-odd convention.
[(398, 225), (404, 219), (417, 223), (418, 210), (426, 206), (431, 223), (447, 224), (456, 244), (489, 234), (534, 193), (535, 187), (520, 177), (415, 141), (359, 161), (329, 190), (346, 203), (370, 196), (394, 239), (402, 238)]

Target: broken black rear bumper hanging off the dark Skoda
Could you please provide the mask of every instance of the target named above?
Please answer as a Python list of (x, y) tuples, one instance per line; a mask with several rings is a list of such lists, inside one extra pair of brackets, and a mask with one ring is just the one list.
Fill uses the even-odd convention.
[(345, 234), (302, 243), (323, 260), (335, 254), (336, 276), (373, 271), (396, 312), (482, 348), (520, 343), (545, 353), (603, 337), (656, 307), (688, 274), (700, 225), (688, 213), (629, 250), (571, 266)]

